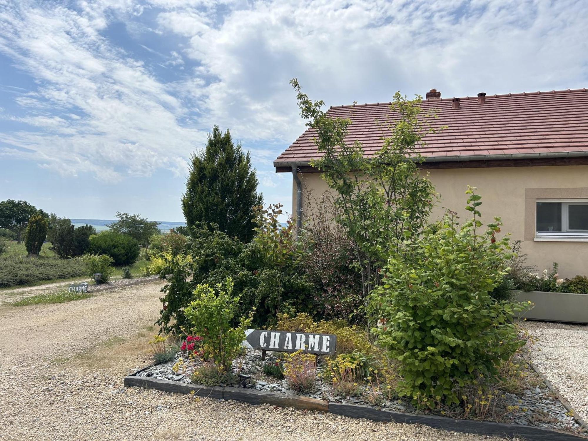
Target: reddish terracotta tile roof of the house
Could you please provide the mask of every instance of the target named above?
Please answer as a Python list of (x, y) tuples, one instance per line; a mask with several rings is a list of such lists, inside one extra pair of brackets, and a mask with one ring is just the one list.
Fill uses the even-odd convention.
[[(513, 159), (551, 156), (588, 156), (588, 91), (487, 95), (460, 99), (452, 109), (452, 98), (423, 101), (423, 110), (435, 109), (433, 127), (446, 126), (424, 137), (419, 151), (428, 161)], [(393, 119), (390, 103), (332, 106), (333, 117), (350, 118), (348, 142), (360, 141), (368, 155), (382, 146), (388, 122)], [(307, 130), (274, 161), (274, 166), (302, 165), (320, 155)]]

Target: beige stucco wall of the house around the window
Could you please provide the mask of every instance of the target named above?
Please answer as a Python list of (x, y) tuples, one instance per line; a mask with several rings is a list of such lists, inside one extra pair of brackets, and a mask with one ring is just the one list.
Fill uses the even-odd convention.
[[(588, 275), (588, 242), (536, 242), (534, 238), (534, 210), (536, 198), (588, 198), (588, 165), (547, 167), (504, 167), (433, 169), (430, 179), (440, 195), (433, 216), (439, 218), (443, 207), (466, 219), (467, 185), (478, 188), (482, 195), (482, 221), (492, 222), (500, 216), (505, 224), (503, 232), (512, 233), (512, 240), (523, 240), (522, 252), (527, 263), (539, 271), (559, 263), (561, 277)], [(300, 173), (303, 188), (312, 189), (317, 196), (328, 191), (319, 173)], [(292, 213), (296, 213), (296, 188), (293, 184)], [(303, 218), (306, 198), (303, 198)]]

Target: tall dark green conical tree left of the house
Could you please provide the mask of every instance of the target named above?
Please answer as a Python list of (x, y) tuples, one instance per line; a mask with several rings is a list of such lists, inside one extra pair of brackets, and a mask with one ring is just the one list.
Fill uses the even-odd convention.
[(253, 238), (253, 207), (263, 203), (249, 153), (233, 143), (229, 131), (214, 126), (206, 149), (192, 156), (182, 209), (190, 230), (198, 222), (216, 223), (220, 231), (243, 242)]

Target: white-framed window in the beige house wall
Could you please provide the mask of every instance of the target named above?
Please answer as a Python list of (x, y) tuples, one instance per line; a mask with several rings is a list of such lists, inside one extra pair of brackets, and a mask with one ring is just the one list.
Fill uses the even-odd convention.
[(588, 199), (537, 199), (536, 236), (588, 239)]

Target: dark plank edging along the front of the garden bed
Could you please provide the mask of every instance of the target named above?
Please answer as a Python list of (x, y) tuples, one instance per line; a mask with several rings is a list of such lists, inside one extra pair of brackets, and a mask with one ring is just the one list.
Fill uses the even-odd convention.
[[(588, 439), (588, 437), (583, 435), (577, 435), (571, 432), (561, 432), (553, 429), (544, 429), (543, 427), (494, 423), (489, 421), (458, 420), (438, 415), (393, 412), (391, 410), (374, 409), (373, 407), (362, 405), (330, 403), (325, 400), (297, 395), (288, 396), (283, 393), (261, 392), (255, 389), (243, 389), (240, 387), (228, 386), (200, 386), (192, 383), (181, 383), (170, 380), (159, 380), (153, 377), (136, 376), (139, 372), (148, 367), (149, 366), (146, 366), (145, 368), (126, 376), (125, 386), (144, 387), (145, 389), (157, 389), (162, 390), (163, 392), (174, 393), (191, 393), (193, 391), (194, 395), (201, 397), (222, 398), (253, 405), (267, 403), (280, 407), (297, 407), (298, 409), (319, 410), (321, 412), (329, 412), (335, 415), (352, 418), (365, 418), (373, 421), (423, 424), (436, 429), (451, 430), (453, 432), (476, 433), (478, 435), (525, 437), (533, 441), (579, 441)], [(583, 422), (580, 424), (582, 425)]]

